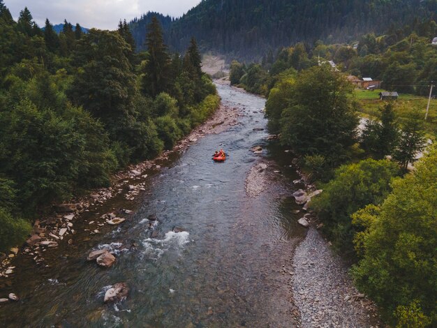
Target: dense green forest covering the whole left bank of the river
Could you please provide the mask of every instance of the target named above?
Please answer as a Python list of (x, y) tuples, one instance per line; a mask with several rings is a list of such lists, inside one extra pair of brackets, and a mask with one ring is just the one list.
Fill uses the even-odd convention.
[(108, 186), (114, 171), (172, 148), (216, 109), (194, 39), (172, 56), (155, 19), (147, 45), (135, 53), (126, 21), (88, 33), (65, 22), (58, 35), (27, 8), (15, 22), (0, 0), (1, 250), (37, 212)]

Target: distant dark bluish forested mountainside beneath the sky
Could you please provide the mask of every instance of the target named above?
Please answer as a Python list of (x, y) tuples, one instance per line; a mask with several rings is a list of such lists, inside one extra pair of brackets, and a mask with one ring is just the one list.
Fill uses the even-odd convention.
[[(409, 24), (414, 17), (435, 16), (436, 10), (436, 0), (204, 0), (183, 17), (172, 21), (161, 16), (161, 22), (175, 50), (186, 49), (195, 36), (202, 50), (253, 59), (297, 42), (353, 40)], [(150, 15), (131, 22), (140, 49)]]

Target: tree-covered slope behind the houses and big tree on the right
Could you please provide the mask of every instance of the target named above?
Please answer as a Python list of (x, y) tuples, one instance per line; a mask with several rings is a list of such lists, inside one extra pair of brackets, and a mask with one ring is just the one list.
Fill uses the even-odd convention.
[(320, 40), (313, 47), (297, 43), (276, 54), (266, 52), (259, 64), (232, 62), (230, 80), (267, 96), (281, 75), (334, 61), (344, 73), (382, 80), (384, 89), (427, 96), (430, 82), (437, 80), (437, 46), (431, 44), (435, 36), (434, 20), (415, 20), (399, 29), (391, 27), (381, 36), (365, 34), (351, 45), (325, 45)]

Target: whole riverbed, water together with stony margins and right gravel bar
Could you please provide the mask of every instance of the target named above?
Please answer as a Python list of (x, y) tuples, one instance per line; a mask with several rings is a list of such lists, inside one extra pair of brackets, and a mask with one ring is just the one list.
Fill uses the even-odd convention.
[[(291, 152), (267, 141), (265, 99), (216, 87), (232, 117), (223, 119), (222, 111), (212, 124), (216, 133), (195, 134), (179, 151), (140, 165), (145, 170), (119, 184), (114, 197), (77, 216), (75, 234), (43, 250), (38, 266), (30, 255), (13, 260), (14, 273), (0, 278), (0, 297), (14, 292), (20, 300), (0, 304), (1, 327), (376, 322), (362, 298), (344, 299), (356, 291), (327, 242), (314, 230), (305, 239), (307, 228), (297, 224), (304, 212), (291, 194), (304, 186), (292, 183), (299, 176)], [(262, 151), (250, 151), (254, 146)], [(212, 161), (216, 149), (228, 153), (224, 163)], [(104, 224), (103, 214), (126, 209), (124, 223)], [(117, 258), (109, 269), (86, 260), (102, 248)], [(339, 276), (344, 283), (335, 284)], [(104, 304), (114, 283), (126, 283), (129, 295)]]

